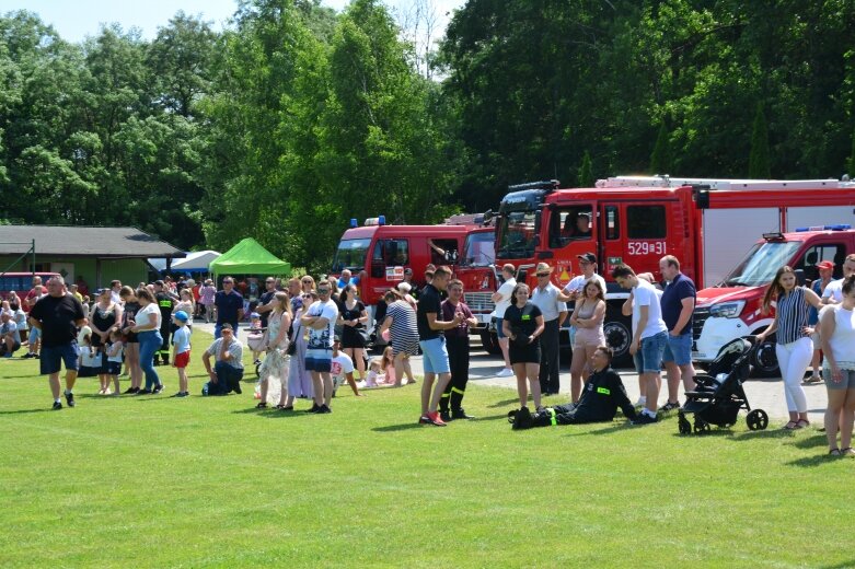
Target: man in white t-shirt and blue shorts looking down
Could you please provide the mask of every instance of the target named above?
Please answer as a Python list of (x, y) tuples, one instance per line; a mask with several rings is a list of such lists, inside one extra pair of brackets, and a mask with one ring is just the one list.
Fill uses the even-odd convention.
[(662, 355), (668, 341), (668, 326), (662, 320), (662, 309), (659, 297), (652, 284), (639, 279), (628, 265), (619, 265), (612, 270), (612, 278), (621, 288), (633, 291), (633, 341), (629, 353), (635, 359), (635, 367), (642, 385), (646, 385), (647, 397), (645, 408), (633, 421), (633, 425), (648, 425), (658, 420), (656, 415), (659, 400), (659, 382), (662, 368)]

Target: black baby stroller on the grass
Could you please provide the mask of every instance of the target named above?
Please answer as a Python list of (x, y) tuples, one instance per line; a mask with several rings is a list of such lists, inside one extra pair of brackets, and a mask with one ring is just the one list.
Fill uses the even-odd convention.
[[(696, 375), (695, 391), (686, 392), (685, 405), (678, 414), (680, 434), (701, 434), (710, 430), (710, 425), (732, 427), (739, 409), (746, 409), (746, 423), (752, 431), (769, 426), (769, 415), (763, 409), (751, 409), (742, 383), (751, 373), (751, 355), (756, 347), (753, 336), (737, 338), (726, 344), (709, 365), (708, 373)], [(694, 415), (694, 426), (686, 419)]]

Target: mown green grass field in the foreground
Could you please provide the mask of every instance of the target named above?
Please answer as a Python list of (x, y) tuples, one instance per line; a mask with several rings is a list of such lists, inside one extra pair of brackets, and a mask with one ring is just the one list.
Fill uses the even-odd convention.
[(813, 429), (512, 432), (484, 387), (447, 428), (416, 425), (415, 386), (257, 411), (251, 383), (198, 395), (209, 339), (186, 399), (82, 379), (50, 411), (37, 362), (0, 361), (0, 566), (855, 566), (855, 461)]

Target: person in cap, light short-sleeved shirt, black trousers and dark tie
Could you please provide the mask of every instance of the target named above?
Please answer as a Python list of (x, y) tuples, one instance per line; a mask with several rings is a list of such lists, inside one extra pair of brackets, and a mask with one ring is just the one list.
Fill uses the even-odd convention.
[(531, 302), (543, 313), (545, 328), (541, 335), (540, 382), (543, 395), (557, 395), (561, 387), (558, 376), (558, 330), (567, 317), (567, 304), (558, 300), (561, 290), (552, 283), (553, 267), (538, 263), (534, 274), (538, 286), (531, 293)]

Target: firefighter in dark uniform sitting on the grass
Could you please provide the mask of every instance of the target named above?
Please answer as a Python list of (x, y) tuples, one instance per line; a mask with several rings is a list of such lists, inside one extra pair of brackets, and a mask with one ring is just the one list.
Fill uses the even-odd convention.
[(635, 419), (635, 408), (626, 396), (621, 376), (611, 368), (611, 362), (612, 349), (600, 346), (591, 358), (593, 372), (582, 388), (579, 403), (546, 407), (535, 415), (531, 415), (525, 407), (519, 411), (511, 411), (512, 428), (517, 430), (550, 425), (611, 421), (617, 407), (623, 410), (627, 419)]

